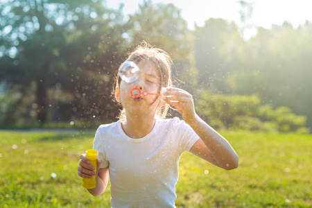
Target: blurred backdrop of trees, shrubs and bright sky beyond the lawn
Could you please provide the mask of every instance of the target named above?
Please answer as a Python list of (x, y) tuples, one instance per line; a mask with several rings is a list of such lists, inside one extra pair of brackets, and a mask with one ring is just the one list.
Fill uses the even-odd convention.
[(308, 133), (309, 3), (259, 2), (0, 0), (0, 128), (116, 121), (116, 71), (145, 40), (212, 127)]

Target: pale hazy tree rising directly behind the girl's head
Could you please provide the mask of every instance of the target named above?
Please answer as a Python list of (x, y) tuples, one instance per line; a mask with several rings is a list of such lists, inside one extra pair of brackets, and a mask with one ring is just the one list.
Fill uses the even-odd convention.
[(178, 74), (188, 90), (196, 86), (193, 37), (179, 9), (172, 3), (153, 4), (152, 1), (144, 1), (139, 6), (139, 11), (130, 16), (128, 25), (128, 36), (134, 46), (145, 40), (164, 49), (173, 58), (173, 76)]

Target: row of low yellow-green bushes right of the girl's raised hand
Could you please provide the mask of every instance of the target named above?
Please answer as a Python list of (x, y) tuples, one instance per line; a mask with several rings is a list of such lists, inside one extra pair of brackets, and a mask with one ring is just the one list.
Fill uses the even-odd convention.
[(306, 117), (289, 107), (262, 105), (259, 96), (210, 94), (202, 92), (196, 102), (198, 114), (214, 128), (260, 130), (272, 132), (309, 132)]

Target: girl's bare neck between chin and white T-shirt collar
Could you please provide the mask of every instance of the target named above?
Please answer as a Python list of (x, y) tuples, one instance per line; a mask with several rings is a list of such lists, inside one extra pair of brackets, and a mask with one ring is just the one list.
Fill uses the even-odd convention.
[(155, 116), (125, 116), (126, 119), (121, 122), (123, 132), (128, 137), (139, 139), (148, 135), (155, 125)]

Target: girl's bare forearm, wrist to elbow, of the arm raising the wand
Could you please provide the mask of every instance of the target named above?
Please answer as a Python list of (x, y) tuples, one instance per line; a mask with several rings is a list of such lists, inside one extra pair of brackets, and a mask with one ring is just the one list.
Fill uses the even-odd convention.
[(187, 123), (205, 143), (218, 166), (225, 169), (233, 169), (238, 166), (238, 155), (229, 142), (216, 132), (216, 130), (200, 119), (197, 114)]

